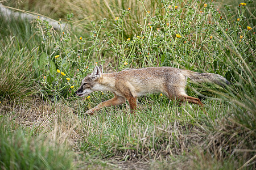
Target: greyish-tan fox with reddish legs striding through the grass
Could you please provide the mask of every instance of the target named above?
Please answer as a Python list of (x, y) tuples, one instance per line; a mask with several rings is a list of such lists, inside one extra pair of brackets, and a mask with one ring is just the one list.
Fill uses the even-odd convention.
[(144, 67), (142, 69), (127, 69), (117, 73), (103, 73), (103, 67), (95, 66), (92, 73), (82, 79), (81, 86), (75, 92), (79, 97), (89, 95), (94, 91), (113, 92), (113, 99), (106, 100), (85, 114), (94, 114), (104, 107), (110, 107), (129, 102), (130, 112), (137, 111), (137, 97), (146, 94), (163, 93), (170, 100), (179, 100), (204, 107), (200, 99), (188, 96), (185, 92), (187, 78), (192, 82), (212, 82), (224, 86), (230, 84), (223, 76), (214, 73), (197, 73), (174, 67)]

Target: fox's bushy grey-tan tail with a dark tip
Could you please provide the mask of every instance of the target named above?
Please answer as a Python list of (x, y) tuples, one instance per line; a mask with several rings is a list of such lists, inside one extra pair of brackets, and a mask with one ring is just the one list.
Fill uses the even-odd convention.
[(186, 70), (185, 76), (190, 78), (193, 82), (213, 82), (219, 84), (221, 86), (225, 86), (225, 84), (230, 84), (228, 80), (226, 80), (223, 76), (213, 73), (197, 73), (194, 71)]

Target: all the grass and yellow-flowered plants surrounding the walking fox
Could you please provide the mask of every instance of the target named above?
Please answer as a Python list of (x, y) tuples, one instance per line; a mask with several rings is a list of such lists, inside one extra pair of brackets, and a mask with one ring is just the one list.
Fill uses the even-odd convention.
[[(68, 2), (73, 14), (58, 4), (54, 15), (38, 11), (67, 15), (59, 20), (67, 21), (63, 30), (40, 16), (32, 23), (0, 17), (1, 168), (255, 169), (252, 1), (236, 10), (197, 1), (88, 2), (98, 15)], [(26, 3), (5, 5), (39, 10), (39, 1)], [(83, 113), (112, 97), (74, 96), (98, 64), (105, 72), (180, 67), (220, 74), (232, 85), (188, 81), (188, 94), (200, 97), (207, 114), (154, 94), (138, 99), (137, 114), (125, 103), (89, 116)]]

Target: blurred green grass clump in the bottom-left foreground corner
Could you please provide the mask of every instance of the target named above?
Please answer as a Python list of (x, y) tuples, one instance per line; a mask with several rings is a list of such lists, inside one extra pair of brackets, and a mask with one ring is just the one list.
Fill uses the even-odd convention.
[[(75, 169), (74, 154), (46, 138), (31, 137), (22, 129), (11, 131), (1, 118), (0, 166), (2, 169)], [(23, 128), (23, 127), (22, 127)]]

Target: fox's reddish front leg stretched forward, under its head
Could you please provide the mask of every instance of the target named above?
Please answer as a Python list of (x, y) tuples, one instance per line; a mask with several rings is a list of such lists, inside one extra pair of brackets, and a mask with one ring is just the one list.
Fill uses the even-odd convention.
[(119, 104), (122, 104), (122, 103), (125, 103), (125, 97), (115, 95), (115, 97), (113, 99), (101, 102), (96, 107), (94, 107), (94, 108), (90, 109), (89, 111), (85, 112), (85, 114), (93, 114), (94, 112), (99, 111), (101, 108), (110, 107), (110, 106), (114, 106), (114, 105), (119, 105)]

